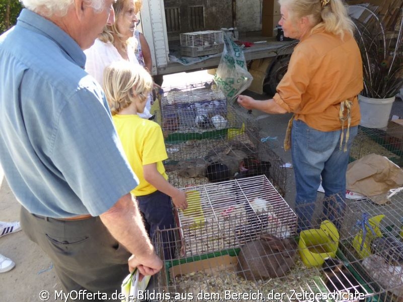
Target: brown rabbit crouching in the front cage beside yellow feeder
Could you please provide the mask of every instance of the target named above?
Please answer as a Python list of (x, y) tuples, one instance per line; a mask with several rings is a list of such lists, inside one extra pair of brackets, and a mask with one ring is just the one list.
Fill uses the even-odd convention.
[(238, 275), (247, 280), (284, 276), (295, 264), (297, 243), (271, 234), (260, 235), (241, 247), (238, 254)]

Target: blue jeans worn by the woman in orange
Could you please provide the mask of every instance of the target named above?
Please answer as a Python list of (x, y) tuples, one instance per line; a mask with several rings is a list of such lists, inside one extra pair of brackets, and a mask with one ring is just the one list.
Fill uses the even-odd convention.
[[(344, 140), (340, 149), (342, 130), (319, 131), (300, 120), (293, 121), (291, 153), (295, 175), (295, 206), (299, 231), (311, 228), (320, 178), (322, 178), (325, 194), (324, 217), (333, 222), (339, 222), (337, 218), (342, 216), (345, 208), (346, 171), (350, 149), (357, 131), (358, 126), (350, 127), (347, 152), (344, 152), (347, 129), (344, 129)], [(334, 194), (338, 194), (336, 196), (339, 198), (328, 198)], [(336, 226), (340, 227), (340, 225)]]

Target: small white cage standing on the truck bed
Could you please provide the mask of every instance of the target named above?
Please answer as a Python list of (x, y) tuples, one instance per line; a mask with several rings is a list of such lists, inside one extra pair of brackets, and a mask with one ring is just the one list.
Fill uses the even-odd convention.
[(180, 53), (185, 56), (216, 54), (224, 49), (223, 32), (207, 30), (180, 34)]

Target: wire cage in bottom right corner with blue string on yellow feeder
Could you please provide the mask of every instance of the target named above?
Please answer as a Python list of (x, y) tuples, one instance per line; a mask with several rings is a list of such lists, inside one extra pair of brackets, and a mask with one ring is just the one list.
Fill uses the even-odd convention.
[(403, 301), (403, 194), (378, 205), (369, 198), (351, 201), (345, 220), (346, 257), (378, 293), (378, 301)]

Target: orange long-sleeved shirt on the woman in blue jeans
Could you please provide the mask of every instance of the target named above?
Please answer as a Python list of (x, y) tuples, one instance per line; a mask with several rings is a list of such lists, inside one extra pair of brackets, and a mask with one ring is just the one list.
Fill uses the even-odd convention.
[(342, 40), (334, 34), (315, 32), (295, 47), (273, 99), (295, 113), (295, 119), (320, 131), (342, 128), (340, 103), (349, 99), (353, 101), (351, 126), (356, 126), (361, 118), (357, 95), (363, 89), (362, 72), (354, 37), (346, 33)]

